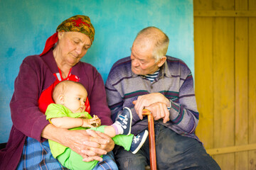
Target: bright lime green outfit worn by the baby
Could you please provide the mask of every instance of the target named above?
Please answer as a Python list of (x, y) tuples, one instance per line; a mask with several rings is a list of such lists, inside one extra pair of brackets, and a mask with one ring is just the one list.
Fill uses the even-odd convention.
[[(91, 119), (92, 116), (87, 113), (72, 113), (68, 108), (66, 108), (63, 105), (52, 103), (48, 106), (46, 110), (46, 119), (50, 120), (51, 118), (62, 118), (62, 117), (70, 117), (70, 118), (80, 118), (85, 117), (88, 119)], [(101, 125), (97, 128), (71, 128), (70, 130), (95, 130), (99, 132), (105, 131), (105, 125)], [(132, 145), (132, 139), (134, 135), (116, 135), (115, 137), (112, 137), (112, 140), (114, 140), (114, 143), (116, 145), (124, 147), (127, 151), (129, 151), (131, 145)], [(50, 152), (52, 152), (53, 157), (57, 158), (58, 161), (68, 169), (93, 169), (98, 161), (92, 161), (92, 162), (83, 162), (82, 156), (80, 154), (73, 152), (68, 147), (65, 147), (63, 145), (60, 145), (58, 142), (48, 140), (50, 145)]]

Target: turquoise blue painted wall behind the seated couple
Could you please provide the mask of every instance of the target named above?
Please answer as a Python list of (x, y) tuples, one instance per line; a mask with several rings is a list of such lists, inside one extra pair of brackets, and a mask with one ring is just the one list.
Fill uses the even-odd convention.
[(82, 59), (104, 81), (112, 64), (130, 55), (139, 30), (156, 26), (170, 39), (167, 55), (181, 58), (193, 72), (193, 0), (0, 0), (0, 142), (11, 130), (9, 102), (19, 65), (40, 54), (46, 39), (70, 16), (90, 16), (95, 42)]

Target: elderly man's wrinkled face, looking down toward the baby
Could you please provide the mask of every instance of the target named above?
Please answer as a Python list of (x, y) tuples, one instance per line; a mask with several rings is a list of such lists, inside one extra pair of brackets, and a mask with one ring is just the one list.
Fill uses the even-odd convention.
[(155, 62), (152, 52), (152, 45), (144, 45), (142, 47), (139, 43), (134, 42), (131, 52), (132, 72), (134, 74), (153, 74), (159, 69), (159, 62)]

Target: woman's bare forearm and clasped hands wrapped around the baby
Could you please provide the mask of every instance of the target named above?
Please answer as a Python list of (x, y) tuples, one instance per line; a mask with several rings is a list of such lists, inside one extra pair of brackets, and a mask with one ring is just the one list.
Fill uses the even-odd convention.
[(114, 148), (111, 137), (94, 130), (65, 130), (49, 124), (43, 129), (41, 136), (69, 147), (86, 162), (93, 159), (102, 161), (100, 155), (107, 154)]

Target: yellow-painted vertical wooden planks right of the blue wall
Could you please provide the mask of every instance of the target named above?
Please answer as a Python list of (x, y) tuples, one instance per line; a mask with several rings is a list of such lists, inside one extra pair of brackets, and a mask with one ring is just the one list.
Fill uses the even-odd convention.
[(196, 135), (221, 169), (256, 169), (256, 0), (194, 0)]

